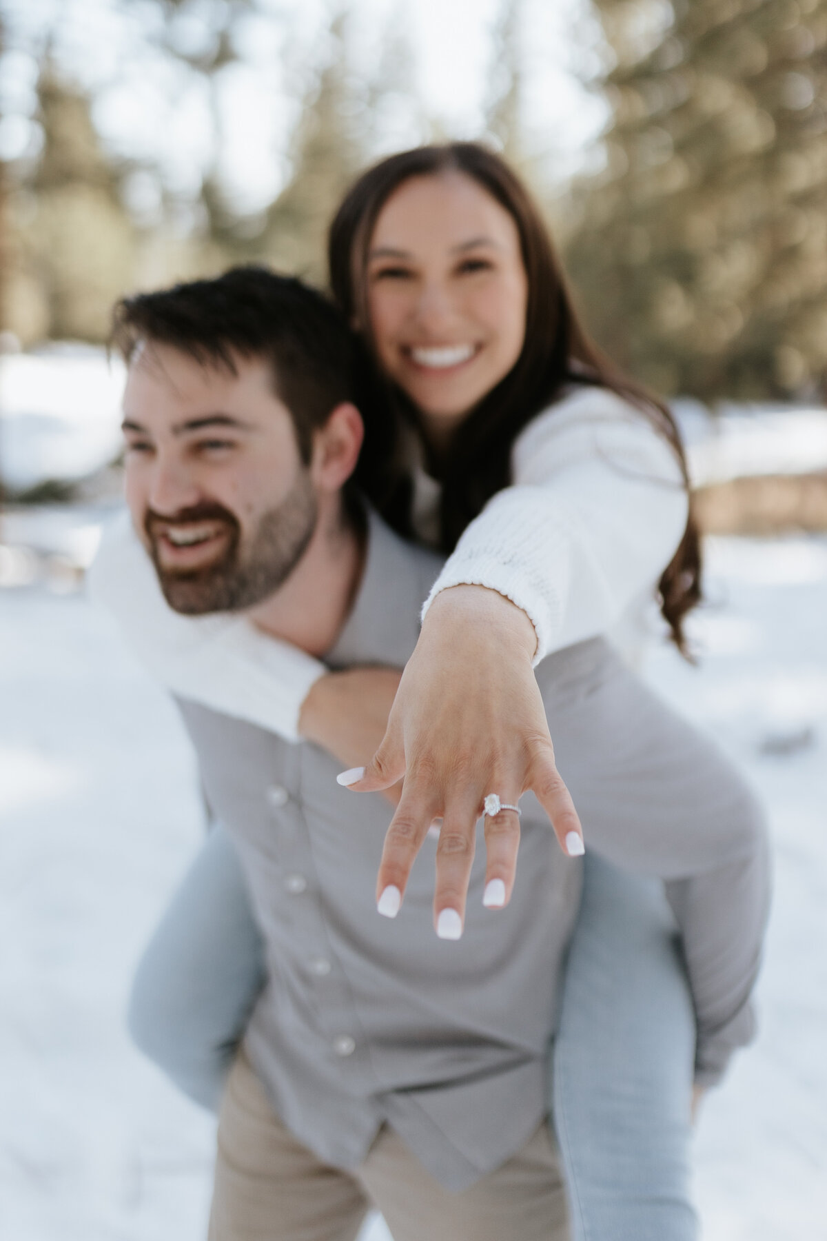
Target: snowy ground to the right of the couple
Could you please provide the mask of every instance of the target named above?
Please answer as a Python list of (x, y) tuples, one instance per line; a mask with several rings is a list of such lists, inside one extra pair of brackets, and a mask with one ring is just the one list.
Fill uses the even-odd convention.
[(648, 675), (712, 728), (770, 812), (775, 897), (761, 1033), (705, 1103), (704, 1241), (827, 1237), (827, 540), (712, 540), (696, 671)]

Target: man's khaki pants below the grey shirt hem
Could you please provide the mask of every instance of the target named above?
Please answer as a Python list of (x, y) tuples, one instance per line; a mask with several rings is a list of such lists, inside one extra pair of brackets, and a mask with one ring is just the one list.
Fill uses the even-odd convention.
[(567, 1241), (565, 1198), (547, 1124), (516, 1155), (453, 1194), (387, 1126), (345, 1173), (274, 1114), (242, 1052), (218, 1118), (210, 1241), (353, 1241), (376, 1205), (394, 1241)]

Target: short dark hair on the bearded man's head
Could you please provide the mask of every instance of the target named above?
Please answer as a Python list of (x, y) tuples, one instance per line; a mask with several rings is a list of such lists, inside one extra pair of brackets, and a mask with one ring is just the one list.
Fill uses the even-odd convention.
[(112, 344), (126, 364), (141, 341), (171, 345), (236, 374), (233, 355), (270, 362), (273, 390), (288, 407), (305, 465), (312, 433), (352, 400), (352, 334), (315, 289), (265, 267), (233, 267), (211, 280), (122, 298)]

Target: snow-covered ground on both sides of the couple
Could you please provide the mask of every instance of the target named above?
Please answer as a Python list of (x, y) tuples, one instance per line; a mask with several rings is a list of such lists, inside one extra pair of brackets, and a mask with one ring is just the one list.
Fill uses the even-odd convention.
[[(759, 1042), (699, 1122), (703, 1236), (820, 1241), (827, 540), (719, 540), (709, 568), (701, 669), (663, 649), (648, 675), (761, 791), (776, 895)], [(196, 1241), (212, 1123), (123, 1028), (136, 956), (202, 834), (187, 741), (112, 622), (43, 583), (0, 591), (0, 1236)]]

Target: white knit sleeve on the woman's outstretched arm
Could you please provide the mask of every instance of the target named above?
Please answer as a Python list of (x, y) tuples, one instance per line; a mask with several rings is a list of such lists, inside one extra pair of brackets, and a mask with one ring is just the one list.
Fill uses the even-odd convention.
[(687, 515), (667, 441), (614, 392), (583, 388), (517, 439), (513, 485), (469, 525), (423, 616), (453, 586), (497, 591), (529, 617), (537, 664), (606, 633), (652, 591)]

